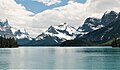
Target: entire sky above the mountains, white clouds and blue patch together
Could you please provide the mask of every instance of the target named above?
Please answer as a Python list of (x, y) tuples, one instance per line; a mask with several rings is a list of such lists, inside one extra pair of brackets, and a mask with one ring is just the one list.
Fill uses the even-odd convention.
[(119, 9), (119, 0), (0, 0), (0, 19), (37, 36), (51, 25), (66, 22), (78, 28), (88, 17)]

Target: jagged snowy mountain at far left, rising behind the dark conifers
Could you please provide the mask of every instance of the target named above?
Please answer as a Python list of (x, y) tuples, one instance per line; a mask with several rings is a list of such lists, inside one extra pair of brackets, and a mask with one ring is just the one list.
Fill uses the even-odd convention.
[(0, 20), (0, 36), (16, 38), (18, 45), (24, 45), (31, 41), (29, 33), (25, 29), (18, 29), (9, 25), (8, 20)]

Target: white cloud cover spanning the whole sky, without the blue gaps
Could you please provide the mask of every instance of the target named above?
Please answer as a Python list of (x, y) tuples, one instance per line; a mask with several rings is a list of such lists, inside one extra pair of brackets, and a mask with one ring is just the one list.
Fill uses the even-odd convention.
[[(48, 0), (41, 1), (46, 1), (46, 5), (49, 3)], [(55, 4), (58, 1), (60, 0), (50, 0), (52, 2), (50, 4)], [(70, 2), (66, 6), (29, 16), (33, 13), (27, 11), (20, 4), (16, 4), (14, 0), (0, 0), (0, 18), (7, 18), (11, 25), (23, 27), (34, 35), (41, 33), (50, 25), (59, 25), (64, 22), (77, 28), (83, 24), (87, 17), (101, 17), (105, 11), (119, 12), (119, 9), (119, 0), (88, 0), (85, 4)]]

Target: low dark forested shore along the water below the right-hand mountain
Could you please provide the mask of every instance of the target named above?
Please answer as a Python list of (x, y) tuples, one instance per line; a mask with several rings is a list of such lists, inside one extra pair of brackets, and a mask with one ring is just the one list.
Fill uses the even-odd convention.
[(61, 47), (66, 46), (112, 46), (120, 47), (120, 36), (111, 39), (110, 41), (88, 41), (88, 40), (70, 40), (61, 44)]

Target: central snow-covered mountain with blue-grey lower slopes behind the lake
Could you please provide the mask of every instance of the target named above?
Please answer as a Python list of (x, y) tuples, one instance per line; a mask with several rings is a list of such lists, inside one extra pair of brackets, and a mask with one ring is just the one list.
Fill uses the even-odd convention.
[(66, 23), (58, 26), (50, 26), (45, 32), (38, 35), (32, 45), (60, 45), (66, 40), (72, 40), (76, 36), (76, 29)]

